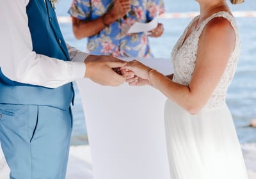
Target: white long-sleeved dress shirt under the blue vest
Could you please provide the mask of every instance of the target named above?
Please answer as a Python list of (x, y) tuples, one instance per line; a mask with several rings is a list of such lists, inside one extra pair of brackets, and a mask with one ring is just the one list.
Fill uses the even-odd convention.
[(0, 67), (9, 79), (57, 88), (84, 77), (89, 55), (68, 47), (70, 61), (33, 52), (26, 5), (29, 0), (0, 0)]

